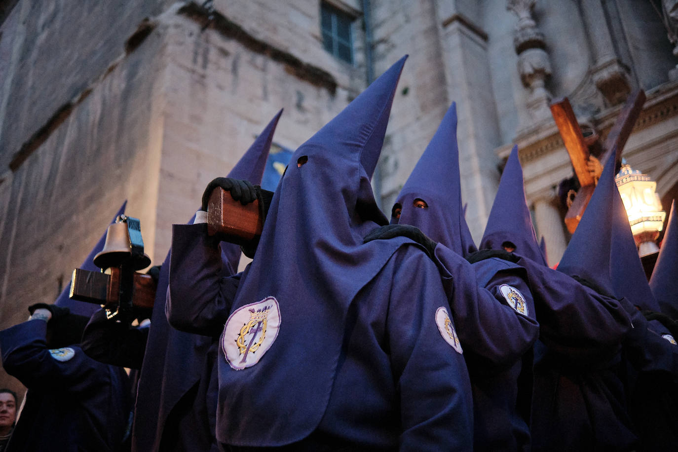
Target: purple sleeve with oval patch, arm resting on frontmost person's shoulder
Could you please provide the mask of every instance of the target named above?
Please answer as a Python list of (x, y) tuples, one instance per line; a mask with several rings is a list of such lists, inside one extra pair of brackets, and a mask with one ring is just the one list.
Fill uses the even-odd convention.
[[(458, 325), (459, 338), (466, 352), (481, 358), (477, 363), (495, 367), (515, 363), (539, 337), (539, 324), (534, 319), (532, 294), (516, 269), (502, 268), (495, 260), (468, 263), (445, 247), (436, 248), (438, 268), (443, 278), (450, 308)], [(474, 266), (497, 267), (495, 276), (485, 287), (479, 287)], [(509, 285), (522, 295), (524, 314), (509, 306), (500, 287)]]

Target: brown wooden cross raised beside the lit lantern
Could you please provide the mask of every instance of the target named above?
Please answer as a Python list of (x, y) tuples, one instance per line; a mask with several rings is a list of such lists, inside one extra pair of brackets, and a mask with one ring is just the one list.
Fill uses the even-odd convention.
[[(614, 121), (614, 125), (612, 126), (612, 129), (610, 129), (610, 133), (607, 134), (607, 138), (603, 144), (603, 155), (600, 159), (600, 163), (603, 167), (605, 167), (605, 162), (612, 156), (613, 152), (613, 158), (616, 160), (616, 168), (620, 167), (622, 150), (624, 149), (626, 140), (628, 140), (631, 135), (631, 130), (633, 130), (635, 121), (637, 121), (643, 110), (644, 103), (645, 91), (643, 91), (643, 89), (633, 91), (629, 98), (626, 99), (624, 107), (619, 113), (616, 121)], [(589, 148), (584, 143), (584, 137), (582, 136), (579, 123), (574, 116), (574, 111), (572, 111), (570, 101), (567, 100), (567, 98), (563, 98), (553, 102), (553, 104), (551, 104), (551, 114), (560, 131), (560, 136), (563, 138), (563, 144), (565, 144), (565, 149), (567, 149), (567, 153), (570, 155), (574, 173), (581, 186), (570, 209), (567, 210), (567, 215), (565, 215), (565, 226), (567, 226), (567, 230), (569, 230), (571, 234), (574, 234), (574, 230), (576, 230), (579, 220), (581, 220), (582, 215), (584, 215), (586, 206), (589, 205), (597, 180), (593, 178), (593, 175), (591, 175), (588, 170)]]

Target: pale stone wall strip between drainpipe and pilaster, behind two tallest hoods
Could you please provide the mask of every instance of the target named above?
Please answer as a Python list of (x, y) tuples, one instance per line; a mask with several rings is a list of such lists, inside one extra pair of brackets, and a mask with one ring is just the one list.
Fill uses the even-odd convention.
[(437, 15), (431, 1), (373, 2), (375, 76), (403, 55), (407, 62), (393, 100), (380, 160), (381, 196), (390, 216), (410, 171), (433, 137), (451, 100), (447, 96)]

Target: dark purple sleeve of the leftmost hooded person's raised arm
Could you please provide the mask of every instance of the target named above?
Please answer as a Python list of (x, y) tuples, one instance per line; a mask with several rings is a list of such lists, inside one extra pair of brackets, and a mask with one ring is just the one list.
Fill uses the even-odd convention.
[(0, 332), (5, 371), (26, 388), (78, 393), (108, 384), (108, 366), (70, 346), (61, 356), (47, 348), (47, 322), (31, 320)]

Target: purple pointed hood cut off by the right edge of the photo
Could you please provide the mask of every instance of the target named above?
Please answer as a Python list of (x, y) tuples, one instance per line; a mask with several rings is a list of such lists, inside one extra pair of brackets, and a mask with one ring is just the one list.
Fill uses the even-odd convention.
[(671, 319), (678, 320), (678, 213), (676, 202), (671, 203), (669, 221), (659, 251), (657, 263), (650, 278), (650, 289), (659, 308)]

